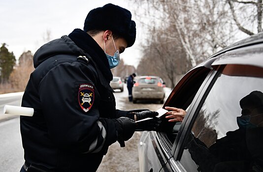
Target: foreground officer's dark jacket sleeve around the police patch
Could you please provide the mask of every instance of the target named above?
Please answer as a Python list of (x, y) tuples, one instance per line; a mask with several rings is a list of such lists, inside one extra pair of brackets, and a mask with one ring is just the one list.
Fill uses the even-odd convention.
[[(99, 92), (94, 71), (83, 63), (60, 64), (51, 69), (38, 86), (47, 132), (60, 148), (95, 153), (117, 141), (113, 119), (99, 118)], [(94, 89), (94, 104), (84, 112), (79, 103), (79, 85)]]

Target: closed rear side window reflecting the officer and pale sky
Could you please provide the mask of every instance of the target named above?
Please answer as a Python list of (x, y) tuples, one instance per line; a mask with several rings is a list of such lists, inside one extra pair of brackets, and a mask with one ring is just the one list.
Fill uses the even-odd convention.
[(201, 104), (181, 164), (191, 172), (263, 169), (263, 68), (226, 65)]

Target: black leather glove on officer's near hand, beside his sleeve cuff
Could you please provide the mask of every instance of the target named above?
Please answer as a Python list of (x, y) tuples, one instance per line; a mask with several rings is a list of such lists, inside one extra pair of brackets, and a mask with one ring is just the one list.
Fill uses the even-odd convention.
[(117, 141), (120, 143), (121, 147), (125, 147), (124, 141), (131, 139), (135, 129), (137, 128), (137, 124), (134, 120), (128, 117), (120, 117), (115, 119), (114, 122), (118, 132)]

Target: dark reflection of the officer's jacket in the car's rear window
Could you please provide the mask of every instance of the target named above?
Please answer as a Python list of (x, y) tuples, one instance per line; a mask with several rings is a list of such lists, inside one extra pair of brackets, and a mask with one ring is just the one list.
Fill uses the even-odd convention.
[(253, 164), (261, 164), (263, 156), (255, 155), (251, 149), (262, 147), (262, 141), (260, 138), (251, 140), (250, 137), (259, 131), (262, 132), (263, 128), (229, 131), (209, 148), (191, 134), (186, 148), (201, 172), (254, 172)]

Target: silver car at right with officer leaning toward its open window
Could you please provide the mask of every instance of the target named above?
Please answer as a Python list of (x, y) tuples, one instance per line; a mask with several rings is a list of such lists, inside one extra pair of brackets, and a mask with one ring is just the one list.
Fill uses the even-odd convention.
[(263, 172), (263, 33), (198, 64), (165, 106), (187, 115), (143, 132), (140, 172)]

